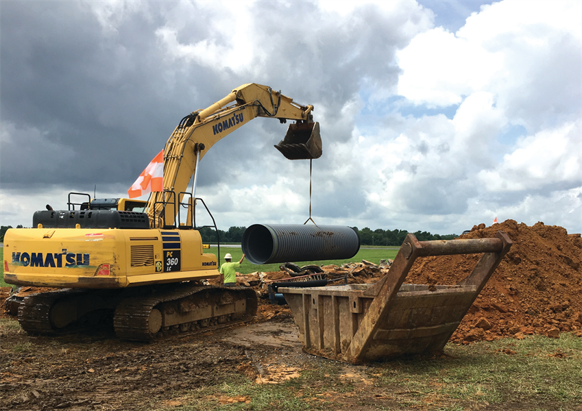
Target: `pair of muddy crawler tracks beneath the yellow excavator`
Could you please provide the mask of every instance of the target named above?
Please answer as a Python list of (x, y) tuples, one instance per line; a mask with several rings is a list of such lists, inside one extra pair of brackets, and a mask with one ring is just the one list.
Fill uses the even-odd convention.
[(19, 323), (29, 334), (57, 334), (101, 310), (114, 312), (114, 329), (122, 340), (151, 341), (250, 321), (256, 307), (256, 293), (248, 288), (185, 283), (122, 293), (68, 288), (25, 297)]

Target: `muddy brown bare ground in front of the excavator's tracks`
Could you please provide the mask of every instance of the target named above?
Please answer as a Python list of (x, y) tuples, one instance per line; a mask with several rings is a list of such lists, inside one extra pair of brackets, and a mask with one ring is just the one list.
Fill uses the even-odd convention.
[[(10, 321), (12, 332), (0, 332), (0, 410), (173, 408), (185, 401), (181, 394), (187, 390), (213, 386), (235, 374), (277, 384), (329, 362), (303, 353), (289, 310), (271, 305), (261, 306), (247, 325), (149, 344), (121, 341), (108, 328), (28, 336), (14, 331), (18, 325)], [(367, 377), (358, 367), (342, 366), (342, 378), (366, 386)], [(250, 402), (237, 396), (215, 400)], [(356, 403), (349, 394), (345, 401), (348, 408)]]

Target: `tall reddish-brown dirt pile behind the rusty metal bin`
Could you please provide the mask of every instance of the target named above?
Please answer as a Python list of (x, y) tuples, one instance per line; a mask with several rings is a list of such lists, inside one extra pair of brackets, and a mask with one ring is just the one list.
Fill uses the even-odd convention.
[[(513, 246), (477, 297), (457, 332), (456, 342), (527, 334), (582, 336), (582, 238), (566, 229), (507, 220), (473, 227), (460, 238), (492, 238), (498, 230)], [(406, 282), (456, 284), (469, 275), (479, 255), (417, 260)]]

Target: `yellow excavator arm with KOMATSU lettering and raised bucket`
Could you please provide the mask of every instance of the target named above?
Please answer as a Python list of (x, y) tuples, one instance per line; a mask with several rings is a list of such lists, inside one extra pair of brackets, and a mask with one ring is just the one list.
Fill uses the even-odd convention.
[(313, 105), (294, 103), (270, 87), (243, 84), (208, 108), (185, 116), (165, 145), (164, 191), (152, 192), (147, 201), (150, 227), (175, 224), (177, 204), (195, 176), (199, 160), (218, 140), (256, 117), (271, 117), (281, 123), (295, 120), (275, 147), (290, 160), (319, 158), (322, 140), (312, 111)]

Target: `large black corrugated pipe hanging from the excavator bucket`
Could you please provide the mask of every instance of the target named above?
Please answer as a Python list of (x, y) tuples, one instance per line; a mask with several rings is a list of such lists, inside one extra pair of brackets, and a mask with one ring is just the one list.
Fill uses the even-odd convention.
[(254, 224), (243, 234), (243, 253), (252, 264), (345, 260), (360, 249), (360, 237), (341, 225)]

